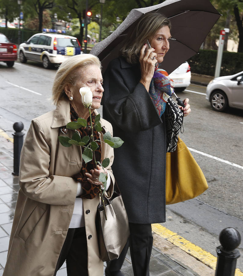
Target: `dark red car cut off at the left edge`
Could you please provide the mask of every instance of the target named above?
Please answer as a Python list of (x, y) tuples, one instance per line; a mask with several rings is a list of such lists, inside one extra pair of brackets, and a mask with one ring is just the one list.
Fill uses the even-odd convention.
[(0, 33), (0, 61), (6, 62), (8, 67), (13, 67), (17, 60), (17, 46)]

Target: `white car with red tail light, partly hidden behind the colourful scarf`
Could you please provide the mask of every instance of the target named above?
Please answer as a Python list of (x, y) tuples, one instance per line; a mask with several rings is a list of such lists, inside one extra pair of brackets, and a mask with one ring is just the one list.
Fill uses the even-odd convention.
[(174, 89), (181, 92), (191, 84), (191, 67), (187, 61), (182, 63), (169, 75), (170, 79), (174, 82)]

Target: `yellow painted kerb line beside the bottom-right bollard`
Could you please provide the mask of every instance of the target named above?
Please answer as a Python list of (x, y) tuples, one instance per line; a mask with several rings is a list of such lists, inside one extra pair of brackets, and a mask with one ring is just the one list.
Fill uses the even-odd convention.
[[(183, 251), (198, 259), (205, 265), (211, 267), (214, 270), (216, 269), (217, 258), (201, 247), (189, 242), (188, 240), (179, 236), (177, 233), (170, 231), (159, 223), (152, 224), (152, 231), (164, 239), (170, 241), (177, 247), (181, 248)], [(235, 276), (243, 276), (243, 273), (237, 268), (235, 270)]]

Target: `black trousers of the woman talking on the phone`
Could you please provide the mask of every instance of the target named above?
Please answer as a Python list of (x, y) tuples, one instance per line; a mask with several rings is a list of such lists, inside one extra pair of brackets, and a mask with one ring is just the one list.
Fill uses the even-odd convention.
[(110, 271), (118, 271), (126, 257), (128, 247), (134, 276), (149, 276), (149, 261), (153, 246), (151, 224), (129, 223), (130, 237), (118, 259), (107, 262)]

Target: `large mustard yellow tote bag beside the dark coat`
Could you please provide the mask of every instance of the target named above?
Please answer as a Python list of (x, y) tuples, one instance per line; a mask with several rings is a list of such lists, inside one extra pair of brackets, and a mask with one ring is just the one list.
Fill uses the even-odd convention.
[(166, 205), (194, 198), (207, 188), (202, 170), (179, 137), (176, 151), (166, 153)]

